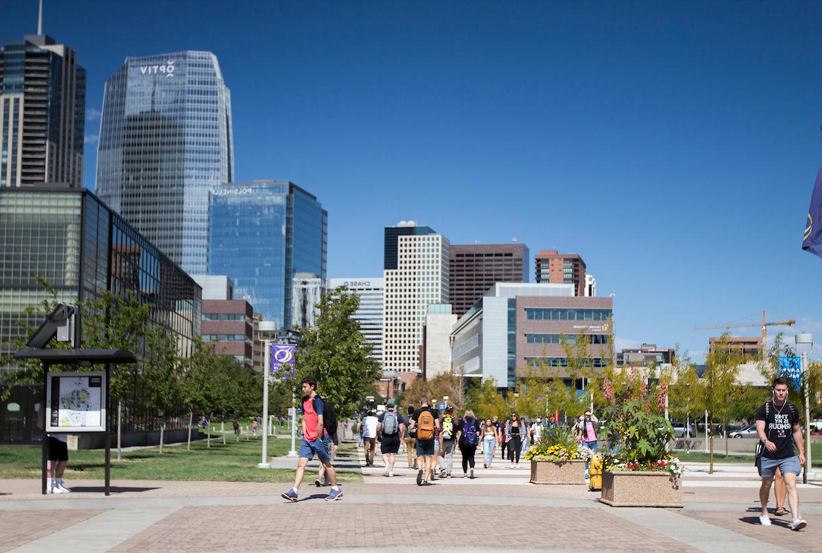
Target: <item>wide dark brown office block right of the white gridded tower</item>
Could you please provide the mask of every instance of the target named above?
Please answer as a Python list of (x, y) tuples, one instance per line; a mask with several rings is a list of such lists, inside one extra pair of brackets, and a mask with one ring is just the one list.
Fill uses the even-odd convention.
[(495, 283), (527, 282), (528, 262), (524, 244), (451, 244), (448, 295), (455, 315), (464, 316)]

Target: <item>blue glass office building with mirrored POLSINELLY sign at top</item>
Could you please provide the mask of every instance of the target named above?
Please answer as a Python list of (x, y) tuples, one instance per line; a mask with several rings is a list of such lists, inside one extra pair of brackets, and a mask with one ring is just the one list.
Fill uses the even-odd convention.
[(287, 181), (236, 182), (211, 196), (209, 274), (226, 274), (244, 299), (278, 328), (292, 326), (293, 279), (326, 279), (328, 212)]

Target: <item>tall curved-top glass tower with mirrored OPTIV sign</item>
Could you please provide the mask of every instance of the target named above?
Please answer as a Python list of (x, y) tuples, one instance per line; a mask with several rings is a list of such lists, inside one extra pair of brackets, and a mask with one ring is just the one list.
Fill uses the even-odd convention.
[(209, 193), (233, 181), (233, 159), (213, 53), (126, 58), (106, 82), (97, 195), (190, 274), (207, 270)]

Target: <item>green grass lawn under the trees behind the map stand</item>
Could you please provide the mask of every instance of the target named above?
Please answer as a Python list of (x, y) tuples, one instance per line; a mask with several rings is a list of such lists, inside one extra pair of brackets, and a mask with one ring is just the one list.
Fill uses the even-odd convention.
[[(349, 446), (350, 447), (350, 446)], [(270, 456), (285, 455), (291, 449), (291, 440), (268, 440)], [(3, 478), (39, 478), (39, 445), (0, 446), (0, 475)], [(157, 448), (124, 451), (122, 461), (117, 460), (117, 451), (112, 450), (112, 480), (203, 480), (223, 482), (291, 482), (291, 469), (256, 468), (260, 462), (262, 440), (234, 441), (230, 435), (228, 443), (215, 440), (212, 435), (211, 447), (205, 440), (192, 442), (192, 450), (187, 451), (185, 443), (164, 447), (160, 455)], [(342, 453), (342, 452), (341, 452)], [(346, 452), (347, 453), (347, 452)], [(102, 449), (70, 451), (65, 477), (99, 479), (104, 478), (104, 452)], [(306, 480), (316, 474), (306, 471)], [(339, 482), (363, 482), (357, 472), (339, 472)]]

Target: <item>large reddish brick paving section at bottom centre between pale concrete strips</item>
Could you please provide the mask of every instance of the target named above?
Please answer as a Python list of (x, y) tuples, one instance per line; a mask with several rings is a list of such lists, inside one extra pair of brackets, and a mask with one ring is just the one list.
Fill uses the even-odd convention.
[[(317, 498), (319, 499), (319, 498)], [(300, 505), (304, 503), (304, 505)], [(506, 541), (518, 550), (575, 550), (580, 546), (580, 521), (594, 524), (584, 549), (657, 553), (690, 553), (696, 550), (605, 511), (590, 509), (523, 508), (518, 506), (463, 505), (459, 509), (432, 509), (425, 503), (402, 505), (330, 505), (321, 500), (262, 507), (187, 507), (161, 523), (124, 541), (118, 553), (179, 551), (282, 551), (332, 548), (381, 548), (418, 546), (423, 551), (442, 547), (482, 547), (485, 537), (474, 529), (455, 532), (460, 521), (491, 521), (504, 524), (505, 532), (494, 532), (492, 541)], [(310, 504), (310, 505), (309, 505)], [(418, 527), (412, 513), (431, 514)], [(446, 523), (449, 515), (454, 524)], [(391, 522), (389, 532), (377, 528), (378, 521)], [(344, 531), (324, 531), (335, 528)], [(472, 528), (473, 524), (472, 524)], [(534, 532), (545, 528), (545, 532)], [(494, 545), (501, 545), (495, 543)]]

